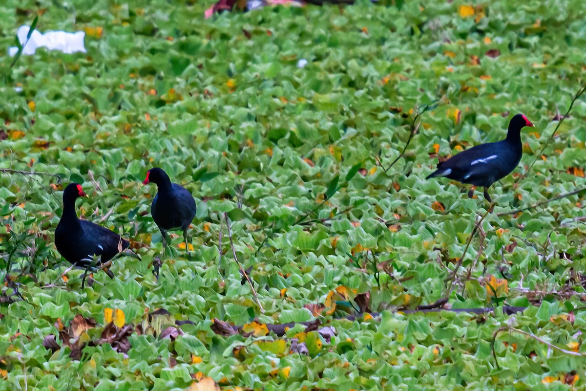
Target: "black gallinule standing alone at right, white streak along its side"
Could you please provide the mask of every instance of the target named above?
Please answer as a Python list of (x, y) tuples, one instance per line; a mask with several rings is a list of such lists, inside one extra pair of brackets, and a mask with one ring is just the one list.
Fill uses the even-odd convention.
[[(480, 144), (466, 149), (437, 165), (437, 170), (425, 179), (446, 176), (458, 182), (484, 187), (484, 198), (491, 202), (488, 188), (515, 169), (521, 155), (521, 129), (533, 126), (523, 114), (511, 118), (505, 140)], [(469, 193), (472, 195), (472, 193)]]

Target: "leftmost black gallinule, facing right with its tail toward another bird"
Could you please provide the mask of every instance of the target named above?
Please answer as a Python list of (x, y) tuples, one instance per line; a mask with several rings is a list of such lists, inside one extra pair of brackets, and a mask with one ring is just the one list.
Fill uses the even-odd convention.
[[(70, 183), (63, 192), (63, 215), (55, 229), (55, 246), (64, 259), (86, 269), (81, 283), (83, 288), (87, 271), (96, 266), (93, 264), (94, 255), (100, 256), (100, 263), (104, 264), (130, 243), (107, 228), (80, 220), (75, 210), (75, 201), (79, 197), (87, 197), (87, 194), (79, 183)], [(114, 278), (108, 271), (108, 276)]]

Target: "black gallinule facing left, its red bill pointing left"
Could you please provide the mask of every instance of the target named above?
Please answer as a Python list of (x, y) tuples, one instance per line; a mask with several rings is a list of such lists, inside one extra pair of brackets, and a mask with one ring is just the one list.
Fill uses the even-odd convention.
[(142, 184), (147, 185), (151, 182), (155, 183), (159, 190), (152, 200), (151, 215), (161, 230), (163, 249), (167, 245), (166, 231), (180, 228), (183, 230), (188, 259), (191, 260), (187, 230), (197, 210), (195, 199), (188, 189), (172, 183), (169, 175), (161, 168), (155, 167), (147, 171), (147, 178)]

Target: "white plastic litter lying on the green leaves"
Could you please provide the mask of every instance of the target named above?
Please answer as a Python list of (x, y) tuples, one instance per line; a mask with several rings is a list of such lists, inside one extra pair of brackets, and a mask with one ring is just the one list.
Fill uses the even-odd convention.
[[(21, 26), (18, 28), (18, 40), (21, 45), (25, 45), (26, 36), (30, 30), (29, 26)], [(38, 47), (46, 47), (49, 50), (59, 50), (63, 53), (86, 53), (86, 46), (84, 45), (84, 38), (86, 33), (78, 31), (76, 33), (68, 33), (65, 31), (47, 31), (45, 34), (40, 33), (38, 30), (33, 31), (32, 35), (24, 49), (22, 50), (23, 55), (33, 55)], [(8, 55), (13, 57), (18, 52), (18, 47), (11, 46), (8, 48)]]

